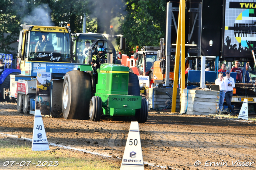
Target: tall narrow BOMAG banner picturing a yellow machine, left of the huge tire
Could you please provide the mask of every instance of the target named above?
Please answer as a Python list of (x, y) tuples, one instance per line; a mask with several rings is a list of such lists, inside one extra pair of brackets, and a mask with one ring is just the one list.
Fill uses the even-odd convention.
[(37, 72), (36, 109), (39, 109), (42, 115), (50, 115), (51, 78), (50, 72)]

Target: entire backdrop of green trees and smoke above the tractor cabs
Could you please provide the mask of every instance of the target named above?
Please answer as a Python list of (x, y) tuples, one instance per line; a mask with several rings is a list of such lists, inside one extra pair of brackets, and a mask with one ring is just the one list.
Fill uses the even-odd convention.
[[(126, 4), (125, 4), (126, 3)], [(17, 41), (21, 24), (66, 26), (82, 32), (86, 14), (86, 32), (110, 33), (126, 37), (126, 53), (132, 55), (136, 45), (159, 46), (164, 37), (165, 0), (0, 0), (0, 53), (8, 53)], [(120, 18), (120, 29), (116, 19)], [(6, 33), (9, 35), (6, 36)], [(119, 41), (119, 40), (118, 40)], [(118, 42), (119, 44), (119, 42)]]

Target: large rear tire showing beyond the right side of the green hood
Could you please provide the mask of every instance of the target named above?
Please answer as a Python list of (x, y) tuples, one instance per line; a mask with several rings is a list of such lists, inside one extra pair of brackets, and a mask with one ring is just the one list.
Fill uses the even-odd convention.
[(132, 72), (129, 72), (128, 95), (140, 96), (139, 78)]

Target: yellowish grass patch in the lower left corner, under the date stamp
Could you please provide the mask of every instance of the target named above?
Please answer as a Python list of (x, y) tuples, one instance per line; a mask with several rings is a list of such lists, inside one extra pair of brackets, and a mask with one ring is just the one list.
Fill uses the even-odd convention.
[[(0, 169), (61, 169), (61, 170), (119, 170), (120, 165), (109, 163), (107, 159), (82, 152), (50, 147), (46, 151), (32, 151), (32, 143), (20, 139), (0, 139)], [(8, 162), (9, 161), (9, 162)], [(11, 162), (12, 161), (12, 162)], [(13, 162), (15, 161), (15, 162)], [(31, 161), (31, 162), (30, 162)], [(40, 162), (41, 161), (41, 162)], [(30, 164), (29, 164), (30, 162)], [(11, 166), (12, 164), (12, 166)], [(29, 164), (29, 165), (28, 165)], [(4, 166), (6, 165), (6, 166)], [(39, 165), (39, 166), (37, 166)]]

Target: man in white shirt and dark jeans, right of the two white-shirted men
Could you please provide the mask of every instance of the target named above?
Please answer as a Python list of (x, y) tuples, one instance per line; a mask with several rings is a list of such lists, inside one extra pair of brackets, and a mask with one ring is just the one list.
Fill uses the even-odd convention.
[(226, 88), (226, 93), (225, 93), (226, 103), (227, 103), (230, 111), (232, 111), (231, 115), (236, 115), (233, 107), (231, 106), (231, 100), (232, 100), (232, 96), (233, 96), (233, 88), (235, 87), (235, 80), (234, 80), (234, 78), (230, 77), (229, 70), (226, 70), (226, 77), (224, 77), (224, 83), (225, 83), (225, 88)]

